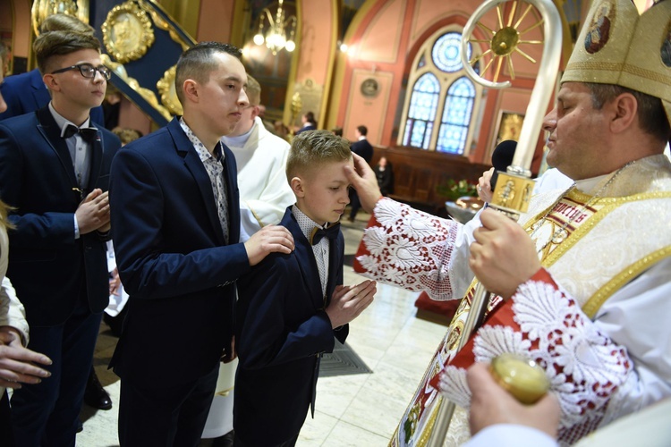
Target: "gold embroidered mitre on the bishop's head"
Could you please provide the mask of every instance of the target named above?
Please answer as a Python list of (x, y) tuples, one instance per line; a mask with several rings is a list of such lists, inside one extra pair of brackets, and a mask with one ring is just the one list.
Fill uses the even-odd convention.
[(594, 0), (562, 82), (616, 84), (658, 97), (671, 122), (671, 0), (639, 14), (632, 0)]

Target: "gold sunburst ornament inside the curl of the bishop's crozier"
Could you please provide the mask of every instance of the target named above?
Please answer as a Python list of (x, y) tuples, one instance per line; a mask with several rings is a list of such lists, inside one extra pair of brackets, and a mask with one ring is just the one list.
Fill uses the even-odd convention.
[(529, 13), (531, 13), (531, 10), (533, 8), (532, 4), (528, 4), (522, 15), (519, 17), (519, 19), (515, 21), (518, 6), (521, 3), (523, 2), (518, 2), (517, 0), (511, 2), (510, 10), (508, 12), (508, 17), (506, 21), (504, 21), (504, 12), (501, 8), (501, 4), (497, 4), (498, 30), (496, 31), (491, 30), (484, 23), (482, 23), (482, 21), (478, 21), (477, 26), (480, 27), (481, 30), (484, 30), (485, 34), (491, 35), (491, 38), (488, 39), (469, 38), (468, 40), (469, 42), (473, 43), (489, 44), (488, 50), (474, 57), (471, 61), (469, 61), (469, 63), (471, 63), (472, 66), (473, 63), (477, 63), (482, 57), (489, 55), (491, 58), (489, 59), (487, 65), (482, 70), (482, 72), (483, 73), (487, 72), (491, 64), (496, 61), (496, 68), (493, 77), (494, 82), (497, 82), (498, 77), (501, 74), (501, 68), (503, 67), (504, 62), (508, 67), (511, 79), (515, 79), (513, 59), (511, 57), (514, 54), (522, 55), (522, 57), (524, 57), (531, 63), (536, 63), (536, 60), (533, 57), (531, 57), (531, 55), (528, 55), (527, 53), (522, 51), (520, 46), (543, 45), (543, 40), (524, 40), (522, 38), (524, 34), (530, 32), (531, 30), (535, 30), (540, 25), (542, 25), (543, 19), (535, 21), (534, 23), (531, 24), (531, 26), (527, 27), (525, 30), (519, 30), (522, 21), (524, 21), (527, 18), (527, 16), (529, 15)]

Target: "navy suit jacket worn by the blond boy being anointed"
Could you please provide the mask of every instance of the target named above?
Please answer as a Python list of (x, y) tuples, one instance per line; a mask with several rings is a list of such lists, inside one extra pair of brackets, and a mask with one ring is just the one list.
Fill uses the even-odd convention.
[[(276, 445), (298, 434), (314, 402), (319, 357), (349, 331), (331, 328), (312, 246), (291, 207), (280, 224), (293, 234), (295, 250), (268, 255), (238, 281), (234, 430), (245, 445)], [(343, 283), (342, 232), (329, 252), (328, 299)]]

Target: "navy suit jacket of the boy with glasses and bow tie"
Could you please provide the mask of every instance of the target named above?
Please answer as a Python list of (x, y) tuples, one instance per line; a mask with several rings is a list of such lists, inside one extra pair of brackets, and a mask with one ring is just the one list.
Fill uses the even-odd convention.
[[(0, 122), (0, 198), (16, 207), (10, 222), (7, 276), (26, 308), (30, 325), (58, 325), (70, 316), (86, 278), (89, 306), (102, 312), (109, 300), (108, 236), (74, 239), (74, 212), (81, 194), (72, 157), (48, 107)], [(107, 190), (112, 158), (121, 146), (98, 128), (91, 146), (88, 194)]]

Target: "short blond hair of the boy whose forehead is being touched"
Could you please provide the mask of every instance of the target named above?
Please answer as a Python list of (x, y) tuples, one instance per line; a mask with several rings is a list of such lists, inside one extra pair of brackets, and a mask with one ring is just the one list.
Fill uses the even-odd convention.
[(352, 159), (350, 143), (331, 131), (304, 131), (293, 138), (286, 160), (286, 179), (310, 175), (326, 163)]

